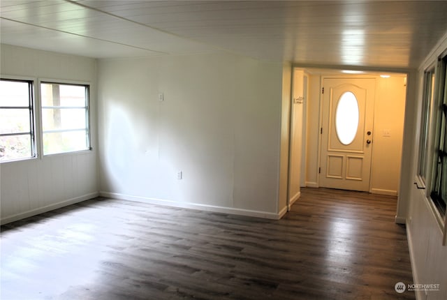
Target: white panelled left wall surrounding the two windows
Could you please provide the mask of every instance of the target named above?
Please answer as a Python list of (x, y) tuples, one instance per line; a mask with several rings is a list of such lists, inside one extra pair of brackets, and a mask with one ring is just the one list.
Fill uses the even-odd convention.
[[(1, 223), (98, 195), (96, 163), (96, 61), (1, 45), (2, 77), (89, 82), (93, 151), (1, 163)], [(37, 96), (37, 95), (36, 95)], [(38, 112), (36, 112), (38, 114)]]

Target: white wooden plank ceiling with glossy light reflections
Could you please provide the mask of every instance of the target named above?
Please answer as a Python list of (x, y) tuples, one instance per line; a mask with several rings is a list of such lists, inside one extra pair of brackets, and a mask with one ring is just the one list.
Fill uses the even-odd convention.
[(1, 43), (95, 58), (232, 52), (268, 61), (417, 68), (447, 1), (2, 0)]

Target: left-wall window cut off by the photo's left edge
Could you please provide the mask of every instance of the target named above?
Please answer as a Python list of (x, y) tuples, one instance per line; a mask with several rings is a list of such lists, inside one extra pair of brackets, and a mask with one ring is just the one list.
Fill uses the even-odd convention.
[(0, 80), (0, 161), (36, 157), (31, 80)]

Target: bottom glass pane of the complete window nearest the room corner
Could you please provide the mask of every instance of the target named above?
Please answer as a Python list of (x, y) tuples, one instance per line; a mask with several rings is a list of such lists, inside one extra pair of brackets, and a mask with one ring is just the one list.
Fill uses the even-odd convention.
[(86, 130), (43, 133), (43, 153), (54, 154), (89, 149)]

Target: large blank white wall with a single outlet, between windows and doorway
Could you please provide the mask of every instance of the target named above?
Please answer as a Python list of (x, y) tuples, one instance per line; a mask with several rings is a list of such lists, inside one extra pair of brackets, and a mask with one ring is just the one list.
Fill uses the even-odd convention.
[(230, 54), (99, 61), (101, 194), (277, 218), (282, 75)]

